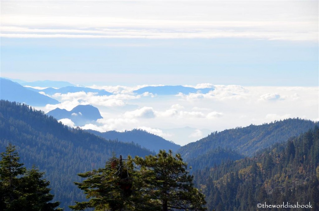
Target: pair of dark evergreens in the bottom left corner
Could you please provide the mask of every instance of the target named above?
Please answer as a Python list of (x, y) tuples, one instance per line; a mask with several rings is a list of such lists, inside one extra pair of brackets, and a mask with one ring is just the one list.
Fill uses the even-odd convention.
[(0, 210), (4, 211), (53, 211), (59, 202), (49, 202), (49, 182), (42, 179), (44, 173), (33, 166), (26, 170), (19, 163), (20, 158), (15, 146), (9, 144), (1, 153), (0, 161)]

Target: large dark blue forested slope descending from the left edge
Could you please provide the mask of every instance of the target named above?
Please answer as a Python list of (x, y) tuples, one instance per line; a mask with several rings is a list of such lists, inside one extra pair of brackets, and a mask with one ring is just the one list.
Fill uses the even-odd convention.
[(80, 128), (70, 129), (52, 116), (20, 103), (0, 101), (0, 152), (8, 143), (17, 146), (20, 162), (26, 168), (33, 164), (44, 171), (50, 181), (54, 201), (70, 210), (74, 201), (85, 196), (73, 182), (78, 173), (104, 167), (115, 152), (117, 156), (152, 154), (134, 143), (106, 140)]

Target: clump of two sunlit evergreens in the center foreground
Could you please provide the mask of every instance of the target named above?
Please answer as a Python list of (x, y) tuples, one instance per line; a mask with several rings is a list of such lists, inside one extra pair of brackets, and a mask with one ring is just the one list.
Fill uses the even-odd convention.
[(69, 206), (73, 210), (206, 210), (204, 195), (193, 186), (181, 156), (172, 151), (125, 161), (113, 156), (105, 168), (78, 175), (86, 179), (75, 184), (89, 201)]

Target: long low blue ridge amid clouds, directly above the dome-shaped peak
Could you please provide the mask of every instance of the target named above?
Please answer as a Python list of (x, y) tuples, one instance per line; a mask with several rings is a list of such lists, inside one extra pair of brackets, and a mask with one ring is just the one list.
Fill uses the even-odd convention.
[(42, 90), (38, 90), (38, 89), (34, 89), (29, 87), (28, 89), (36, 91), (36, 92), (44, 92), (47, 95), (54, 95), (55, 93), (61, 93), (61, 94), (67, 94), (68, 92), (80, 92), (80, 91), (84, 91), (84, 92), (96, 92), (99, 96), (103, 96), (103, 95), (112, 95), (112, 93), (108, 92), (108, 91), (104, 91), (104, 90), (99, 90), (99, 89), (92, 89), (92, 88), (87, 88), (87, 87), (80, 87), (80, 86), (66, 86), (66, 87), (62, 87), (59, 89), (55, 89), (52, 87), (46, 88), (46, 89), (42, 89)]

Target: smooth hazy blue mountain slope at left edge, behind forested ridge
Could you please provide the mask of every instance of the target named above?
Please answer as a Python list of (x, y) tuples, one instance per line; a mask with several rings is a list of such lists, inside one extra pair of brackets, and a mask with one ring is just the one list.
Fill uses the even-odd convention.
[(11, 80), (0, 78), (0, 98), (9, 101), (23, 102), (33, 106), (58, 104), (59, 101), (31, 91)]

